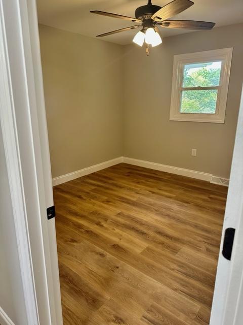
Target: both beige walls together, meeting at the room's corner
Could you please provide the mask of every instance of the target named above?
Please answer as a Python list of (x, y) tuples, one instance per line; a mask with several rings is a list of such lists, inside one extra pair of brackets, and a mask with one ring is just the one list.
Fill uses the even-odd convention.
[[(165, 38), (150, 57), (135, 45), (39, 31), (53, 177), (121, 155), (229, 177), (243, 24)], [(169, 121), (174, 54), (226, 47), (233, 58), (225, 124)]]

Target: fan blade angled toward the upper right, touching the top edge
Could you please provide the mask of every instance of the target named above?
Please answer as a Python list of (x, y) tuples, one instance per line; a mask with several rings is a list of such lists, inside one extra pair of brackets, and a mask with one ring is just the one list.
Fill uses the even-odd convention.
[(155, 12), (151, 18), (155, 21), (166, 20), (178, 15), (192, 5), (194, 5), (194, 2), (190, 0), (174, 0)]

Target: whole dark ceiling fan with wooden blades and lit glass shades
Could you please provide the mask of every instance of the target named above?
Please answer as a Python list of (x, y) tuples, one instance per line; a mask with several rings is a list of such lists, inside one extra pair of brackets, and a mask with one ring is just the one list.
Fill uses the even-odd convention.
[(192, 5), (194, 5), (194, 3), (190, 0), (174, 0), (171, 3), (165, 5), (164, 7), (160, 7), (152, 5), (151, 0), (148, 0), (148, 4), (146, 6), (141, 6), (136, 9), (136, 18), (112, 14), (99, 10), (91, 11), (91, 13), (141, 23), (141, 25), (135, 25), (106, 32), (104, 34), (97, 35), (97, 37), (108, 36), (116, 34), (117, 32), (142, 27), (142, 29), (135, 35), (133, 42), (138, 44), (139, 46), (143, 46), (145, 41), (145, 43), (147, 44), (148, 52), (148, 46), (150, 44), (152, 45), (152, 47), (154, 47), (162, 43), (161, 37), (158, 33), (158, 26), (166, 28), (185, 28), (195, 30), (212, 29), (214, 27), (214, 22), (194, 20), (167, 20), (168, 18), (178, 15), (179, 13), (191, 7)]

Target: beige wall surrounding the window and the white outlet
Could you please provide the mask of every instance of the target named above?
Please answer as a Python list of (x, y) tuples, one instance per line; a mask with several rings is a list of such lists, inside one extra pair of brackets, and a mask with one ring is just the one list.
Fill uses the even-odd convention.
[[(173, 56), (227, 47), (233, 58), (225, 124), (169, 121)], [(124, 71), (124, 155), (228, 178), (243, 81), (243, 24), (165, 38), (150, 57), (128, 45)]]

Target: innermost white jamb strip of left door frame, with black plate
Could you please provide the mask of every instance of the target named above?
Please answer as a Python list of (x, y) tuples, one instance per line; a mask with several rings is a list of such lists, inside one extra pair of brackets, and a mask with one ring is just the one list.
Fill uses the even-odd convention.
[[(25, 36), (26, 66), (30, 97), (35, 110), (32, 110), (31, 121), (35, 133), (35, 149), (38, 151), (37, 177), (39, 181), (39, 199), (42, 201), (42, 236), (45, 251), (48, 298), (52, 325), (62, 325), (61, 292), (58, 270), (55, 219), (47, 221), (48, 207), (53, 206), (52, 174), (48, 141), (46, 107), (43, 86), (41, 49), (36, 0), (22, 0), (22, 26)], [(33, 88), (34, 87), (34, 88)], [(41, 283), (39, 283), (41, 285)], [(46, 324), (45, 324), (46, 325)]]

